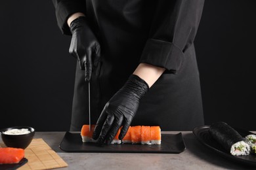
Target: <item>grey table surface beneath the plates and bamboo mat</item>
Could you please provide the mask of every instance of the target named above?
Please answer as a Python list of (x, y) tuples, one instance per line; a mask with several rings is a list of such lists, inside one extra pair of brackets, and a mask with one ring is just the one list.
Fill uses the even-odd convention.
[[(180, 131), (163, 133), (176, 134)], [(180, 154), (77, 153), (59, 148), (65, 132), (36, 132), (68, 163), (60, 169), (256, 169), (220, 156), (201, 144), (191, 131), (181, 131), (186, 150)], [(2, 140), (0, 139), (0, 142)]]

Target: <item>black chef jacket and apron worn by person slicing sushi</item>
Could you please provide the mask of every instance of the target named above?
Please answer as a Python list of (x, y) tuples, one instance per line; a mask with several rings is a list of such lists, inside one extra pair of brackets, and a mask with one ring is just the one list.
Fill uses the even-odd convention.
[[(67, 19), (83, 12), (101, 46), (91, 80), (91, 122), (139, 63), (164, 67), (140, 100), (132, 126), (192, 130), (203, 125), (200, 78), (194, 38), (203, 0), (53, 0), (58, 26), (70, 35)], [(70, 130), (88, 118), (88, 85), (77, 63)]]

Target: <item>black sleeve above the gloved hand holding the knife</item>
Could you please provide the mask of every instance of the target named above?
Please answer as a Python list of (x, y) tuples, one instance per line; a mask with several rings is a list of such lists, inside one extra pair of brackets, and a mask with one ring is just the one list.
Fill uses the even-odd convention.
[(53, 0), (58, 27), (63, 34), (71, 35), (68, 27), (68, 17), (75, 12), (86, 13), (85, 0)]

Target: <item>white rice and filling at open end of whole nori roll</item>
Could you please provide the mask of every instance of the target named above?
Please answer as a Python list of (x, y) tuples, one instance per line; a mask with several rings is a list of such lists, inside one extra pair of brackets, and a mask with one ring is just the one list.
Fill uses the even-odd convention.
[(234, 156), (248, 155), (250, 153), (249, 144), (244, 141), (239, 141), (231, 146), (230, 154)]

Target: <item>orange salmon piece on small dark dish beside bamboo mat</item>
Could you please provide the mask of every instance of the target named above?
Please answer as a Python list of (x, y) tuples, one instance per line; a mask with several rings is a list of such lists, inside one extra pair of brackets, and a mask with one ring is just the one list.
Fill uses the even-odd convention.
[(0, 164), (19, 163), (24, 158), (22, 148), (0, 148)]

